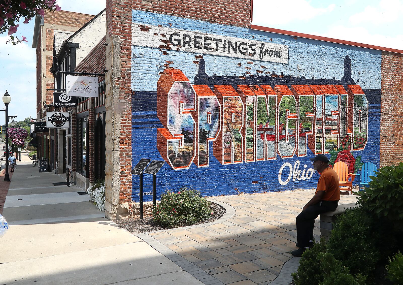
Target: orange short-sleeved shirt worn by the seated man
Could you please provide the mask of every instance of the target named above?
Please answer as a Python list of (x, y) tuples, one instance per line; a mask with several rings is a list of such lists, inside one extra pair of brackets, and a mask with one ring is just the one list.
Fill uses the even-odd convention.
[(332, 168), (328, 167), (321, 173), (315, 194), (318, 191), (325, 191), (323, 201), (340, 200), (339, 176)]

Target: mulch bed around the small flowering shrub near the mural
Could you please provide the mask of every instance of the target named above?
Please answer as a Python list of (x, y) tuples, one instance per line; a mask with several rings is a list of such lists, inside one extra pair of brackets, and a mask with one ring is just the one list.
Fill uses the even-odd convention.
[[(211, 217), (208, 218), (207, 220), (199, 221), (198, 223), (195, 223), (195, 225), (216, 221), (219, 218), (221, 218), (222, 216), (224, 216), (224, 214), (226, 212), (225, 209), (222, 208), (222, 206), (220, 206), (216, 203), (210, 202), (210, 207), (213, 212)], [(161, 227), (160, 225), (157, 225), (156, 223), (154, 223), (152, 216), (144, 216), (142, 220), (136, 219), (136, 220), (132, 220), (132, 221), (127, 221), (127, 220), (116, 221), (116, 224), (119, 225), (119, 227), (121, 227), (131, 233), (134, 233), (134, 234), (146, 233), (148, 231), (159, 231), (159, 230), (172, 229), (172, 228), (164, 228), (164, 227)]]

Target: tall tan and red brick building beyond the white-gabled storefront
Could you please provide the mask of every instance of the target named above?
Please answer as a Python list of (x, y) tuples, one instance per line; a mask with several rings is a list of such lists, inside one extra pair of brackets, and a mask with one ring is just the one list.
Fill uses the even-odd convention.
[[(68, 11), (45, 12), (45, 17), (35, 18), (32, 47), (37, 55), (37, 88), (36, 88), (36, 111), (37, 120), (42, 121), (46, 112), (53, 111), (54, 76), (51, 72), (55, 51), (60, 49), (64, 40), (69, 38), (78, 29), (83, 27), (94, 16)], [(48, 158), (50, 168), (56, 173), (65, 173), (65, 167), (57, 169), (59, 156), (66, 153), (66, 144), (58, 144), (60, 131), (50, 129), (46, 133), (37, 133), (37, 156)], [(64, 133), (64, 137), (65, 137)], [(63, 137), (63, 135), (62, 135)], [(59, 150), (59, 146), (61, 146)], [(64, 156), (65, 157), (65, 156)], [(63, 160), (62, 163), (63, 165)]]

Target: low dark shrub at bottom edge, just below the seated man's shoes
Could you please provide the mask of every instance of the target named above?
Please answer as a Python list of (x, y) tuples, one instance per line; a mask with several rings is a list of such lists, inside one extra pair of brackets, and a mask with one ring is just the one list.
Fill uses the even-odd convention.
[(324, 277), (320, 270), (320, 254), (326, 252), (325, 241), (316, 243), (310, 250), (305, 250), (302, 258), (299, 260), (299, 267), (296, 273), (291, 274), (294, 277), (295, 285), (318, 285)]

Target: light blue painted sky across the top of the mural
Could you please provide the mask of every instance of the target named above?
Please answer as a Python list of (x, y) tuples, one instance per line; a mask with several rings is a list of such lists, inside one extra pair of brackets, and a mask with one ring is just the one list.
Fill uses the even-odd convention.
[[(340, 79), (343, 76), (343, 60), (346, 54), (351, 58), (351, 77), (354, 80), (359, 79), (359, 84), (363, 89), (380, 89), (380, 64), (381, 52), (364, 48), (351, 49), (342, 44), (332, 44), (322, 42), (323, 46), (318, 50), (314, 40), (299, 38), (294, 40), (292, 37), (280, 37), (275, 33), (264, 33), (226, 25), (213, 25), (211, 23), (187, 19), (181, 19), (169, 15), (152, 14), (149, 12), (133, 10), (133, 21), (137, 23), (147, 23), (148, 25), (163, 25), (179, 29), (206, 32), (210, 34), (225, 35), (252, 39), (258, 41), (268, 41), (275, 44), (289, 46), (289, 63), (258, 62), (247, 64), (248, 60), (241, 58), (230, 58), (225, 56), (212, 56), (205, 54), (203, 58), (206, 61), (206, 73), (208, 75), (236, 75), (242, 76), (245, 73), (245, 66), (252, 69), (251, 74), (257, 74), (264, 64), (264, 71), (283, 72), (284, 75), (305, 76), (311, 78), (332, 78)], [(270, 41), (272, 38), (272, 41)], [(300, 49), (304, 49), (304, 56), (301, 57)], [(144, 72), (143, 57), (152, 59), (153, 64), (147, 66), (147, 72)], [(157, 60), (156, 60), (157, 58)], [(371, 58), (371, 60), (368, 60)], [(188, 79), (193, 83), (194, 76), (198, 68), (193, 64), (195, 54), (190, 52), (169, 51), (168, 54), (161, 54), (159, 49), (150, 50), (150, 48), (133, 48), (132, 71), (143, 70), (132, 78), (132, 89), (135, 91), (156, 91), (158, 74), (164, 70), (166, 61), (173, 61), (170, 67), (180, 69)], [(240, 65), (239, 65), (240, 63)], [(155, 76), (154, 76), (155, 75)]]

